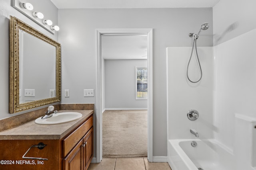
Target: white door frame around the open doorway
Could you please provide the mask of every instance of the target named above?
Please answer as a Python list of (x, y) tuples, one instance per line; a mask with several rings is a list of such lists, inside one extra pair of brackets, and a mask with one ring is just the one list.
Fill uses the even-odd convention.
[(102, 56), (101, 35), (147, 35), (148, 37), (148, 161), (153, 162), (153, 29), (96, 29), (97, 89), (96, 89), (96, 162), (102, 160)]

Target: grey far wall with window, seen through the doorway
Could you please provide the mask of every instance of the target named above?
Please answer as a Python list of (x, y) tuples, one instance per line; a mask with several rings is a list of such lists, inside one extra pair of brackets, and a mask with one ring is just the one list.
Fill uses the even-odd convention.
[(147, 60), (105, 60), (107, 109), (147, 108), (147, 100), (135, 99), (135, 66), (147, 66)]

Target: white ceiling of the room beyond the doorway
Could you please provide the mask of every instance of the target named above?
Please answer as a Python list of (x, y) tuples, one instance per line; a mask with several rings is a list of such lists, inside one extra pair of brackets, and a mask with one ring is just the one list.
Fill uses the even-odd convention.
[(102, 35), (102, 58), (147, 59), (147, 44), (147, 35)]

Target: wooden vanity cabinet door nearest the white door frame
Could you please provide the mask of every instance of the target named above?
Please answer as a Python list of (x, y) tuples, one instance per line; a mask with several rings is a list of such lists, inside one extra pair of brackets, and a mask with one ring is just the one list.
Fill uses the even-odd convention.
[(93, 153), (93, 128), (91, 128), (86, 135), (84, 136), (84, 170), (87, 170), (92, 160), (92, 153)]

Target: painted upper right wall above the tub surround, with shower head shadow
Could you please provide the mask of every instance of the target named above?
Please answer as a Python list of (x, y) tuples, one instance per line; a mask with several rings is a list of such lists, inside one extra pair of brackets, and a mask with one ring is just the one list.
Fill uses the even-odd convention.
[(213, 7), (214, 45), (256, 28), (255, 0), (220, 0)]

